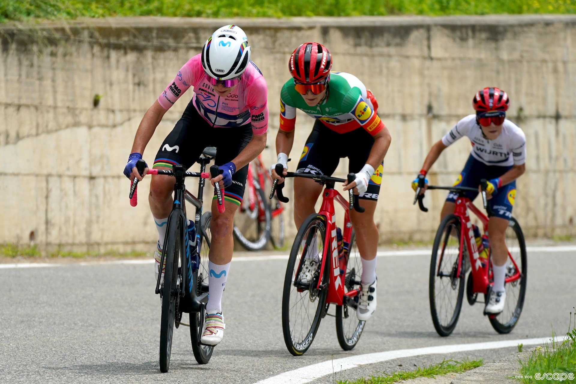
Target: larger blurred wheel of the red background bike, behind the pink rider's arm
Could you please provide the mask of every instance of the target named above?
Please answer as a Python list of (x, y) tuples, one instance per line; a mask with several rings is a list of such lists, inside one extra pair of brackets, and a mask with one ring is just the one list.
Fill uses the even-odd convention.
[(271, 214), (264, 191), (256, 180), (246, 184), (239, 212), (234, 215), (234, 235), (248, 250), (266, 248), (270, 238)]

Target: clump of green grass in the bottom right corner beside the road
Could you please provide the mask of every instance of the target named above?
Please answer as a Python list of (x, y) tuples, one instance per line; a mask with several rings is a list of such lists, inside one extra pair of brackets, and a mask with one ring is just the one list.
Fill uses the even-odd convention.
[[(574, 322), (576, 323), (576, 313), (574, 314)], [(573, 319), (570, 313), (570, 327), (572, 328)], [(564, 379), (564, 382), (574, 382), (576, 375), (576, 325), (574, 328), (566, 333), (568, 339), (562, 343), (552, 342), (543, 347), (536, 348), (532, 355), (526, 362), (520, 362), (520, 379), (523, 383), (558, 383), (557, 378), (544, 378), (537, 377), (537, 374), (543, 375), (545, 373), (559, 373), (559, 374), (573, 374), (572, 379)], [(554, 335), (553, 335), (554, 336)], [(528, 377), (528, 378), (526, 378)]]

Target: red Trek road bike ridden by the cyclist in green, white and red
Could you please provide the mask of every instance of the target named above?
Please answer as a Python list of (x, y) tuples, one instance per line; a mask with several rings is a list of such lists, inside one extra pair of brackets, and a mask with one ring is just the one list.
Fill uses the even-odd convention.
[[(282, 174), (282, 165), (276, 173)], [(340, 347), (349, 351), (354, 348), (364, 329), (365, 321), (356, 317), (362, 263), (355, 244), (355, 233), (350, 222), (350, 210), (363, 212), (358, 195), (350, 190), (347, 201), (334, 189), (334, 183), (343, 183), (342, 178), (288, 172), (285, 177), (312, 178), (325, 184), (323, 201), (317, 214), (304, 220), (290, 251), (286, 267), (282, 295), (282, 330), (288, 351), (299, 356), (310, 348), (320, 321), (328, 314), (331, 303), (336, 305), (336, 334)], [(355, 175), (348, 174), (348, 182)], [(282, 195), (284, 183), (272, 184), (272, 192), (283, 203), (288, 199)], [(336, 227), (334, 201), (344, 208), (342, 239)], [(339, 246), (339, 241), (341, 245)]]

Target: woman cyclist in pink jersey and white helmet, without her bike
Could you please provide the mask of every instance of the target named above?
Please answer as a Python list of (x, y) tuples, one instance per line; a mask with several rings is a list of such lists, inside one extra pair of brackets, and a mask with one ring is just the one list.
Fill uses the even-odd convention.
[[(148, 109), (138, 127), (132, 153), (124, 174), (131, 180), (142, 177), (135, 164), (164, 113), (193, 87), (194, 94), (176, 126), (160, 146), (154, 168), (172, 169), (175, 164), (190, 168), (207, 146), (217, 148), (215, 164), (222, 174), (211, 179), (224, 187), (225, 212), (212, 203), (209, 254), (209, 301), (202, 332), (202, 343), (216, 345), (225, 328), (221, 299), (228, 278), (234, 241), (234, 213), (244, 196), (248, 163), (266, 146), (268, 127), (268, 89), (260, 70), (250, 61), (248, 37), (237, 25), (226, 25), (213, 33), (198, 54), (188, 60), (174, 80)], [(147, 172), (147, 168), (145, 173)], [(154, 272), (160, 270), (160, 256), (172, 210), (175, 179), (154, 175), (150, 184), (150, 210), (158, 230)]]

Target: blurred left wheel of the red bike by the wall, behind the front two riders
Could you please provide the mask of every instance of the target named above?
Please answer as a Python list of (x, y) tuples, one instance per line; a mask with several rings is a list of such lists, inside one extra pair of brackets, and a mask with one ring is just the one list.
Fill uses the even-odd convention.
[[(248, 185), (246, 186), (249, 187)], [(259, 185), (255, 184), (256, 207), (254, 211), (237, 212), (237, 218), (234, 220), (234, 235), (242, 246), (248, 250), (262, 250), (266, 248), (268, 239), (270, 239), (270, 226), (272, 215), (270, 214), (270, 205), (266, 203), (266, 195)], [(244, 204), (244, 201), (242, 201)], [(241, 206), (242, 207), (242, 206)], [(261, 212), (262, 207), (264, 212)], [(262, 214), (264, 216), (262, 216)], [(253, 216), (253, 217), (252, 217)], [(264, 218), (264, 223), (261, 219)], [(243, 220), (243, 222), (242, 222)], [(242, 229), (237, 225), (240, 223)], [(250, 231), (255, 233), (250, 233)]]

